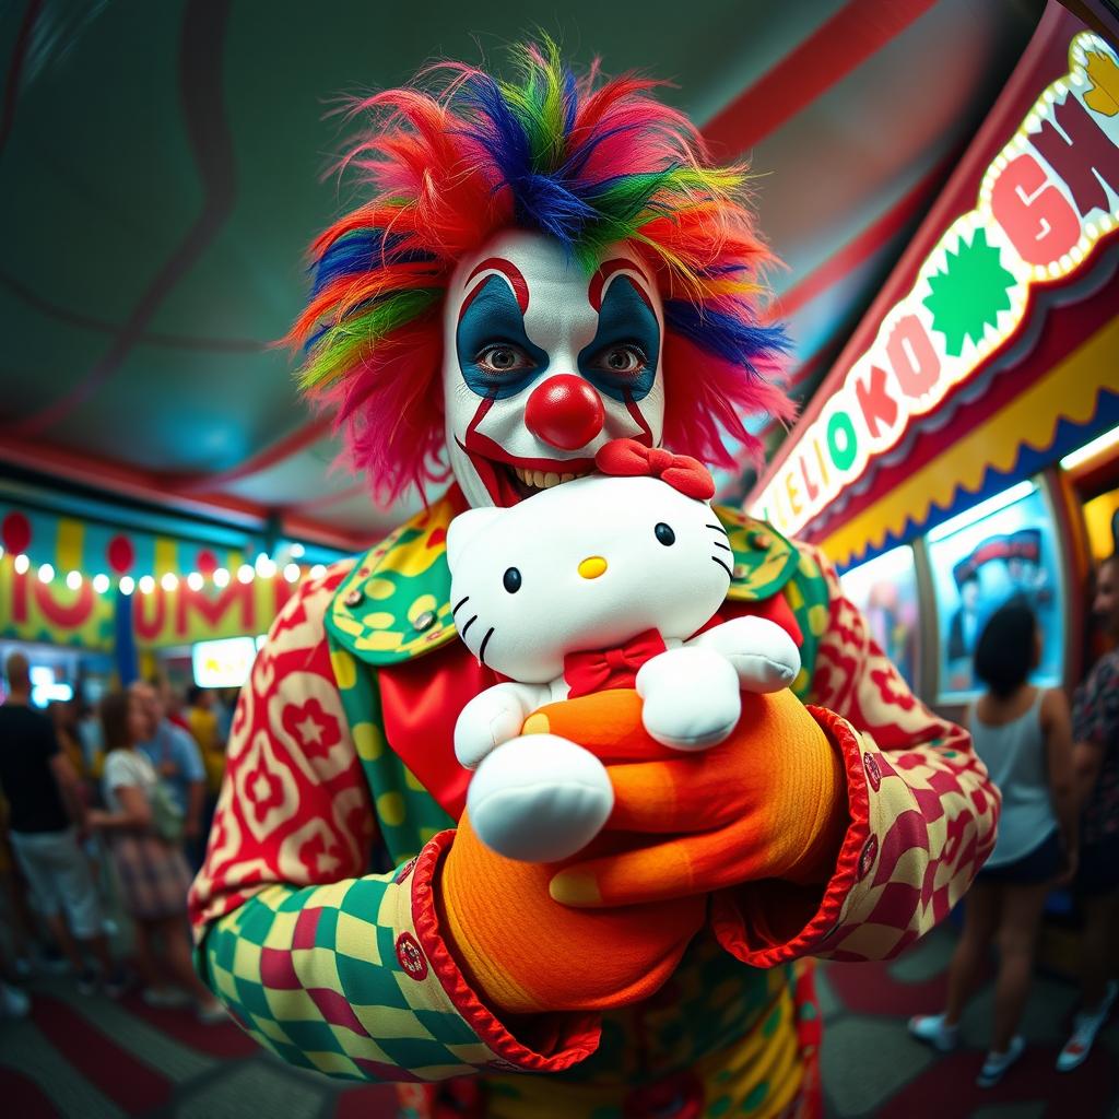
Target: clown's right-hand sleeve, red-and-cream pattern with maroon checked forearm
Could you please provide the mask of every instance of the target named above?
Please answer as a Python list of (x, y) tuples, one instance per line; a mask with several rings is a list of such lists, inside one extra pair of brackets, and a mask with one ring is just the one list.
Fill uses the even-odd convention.
[(827, 606), (808, 618), (819, 645), (807, 700), (843, 758), (846, 797), (835, 810), (846, 830), (822, 888), (769, 881), (720, 900), (720, 938), (756, 967), (900, 952), (967, 891), (994, 847), (999, 809), (967, 732), (910, 692), (831, 565), (799, 548), (787, 595), (802, 595), (806, 581), (827, 587)]

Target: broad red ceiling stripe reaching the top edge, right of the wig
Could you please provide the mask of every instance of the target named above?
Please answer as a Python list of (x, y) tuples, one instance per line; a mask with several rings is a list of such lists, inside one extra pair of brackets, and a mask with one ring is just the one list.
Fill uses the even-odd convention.
[(850, 0), (700, 132), (716, 151), (747, 151), (920, 19), (935, 0)]

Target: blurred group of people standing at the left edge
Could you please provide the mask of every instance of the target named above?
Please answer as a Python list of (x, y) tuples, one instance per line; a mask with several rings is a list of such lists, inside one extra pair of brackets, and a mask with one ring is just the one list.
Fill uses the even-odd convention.
[[(31, 704), (26, 656), (11, 653), (4, 667), (0, 876), (10, 934), (0, 1009), (26, 1014), (17, 980), (58, 967), (83, 994), (119, 997), (138, 981), (149, 1005), (223, 1021), (195, 974), (187, 925), (224, 774), (218, 697), (192, 688), (184, 705), (166, 680), (138, 680), (105, 695), (93, 717), (76, 698), (44, 713)], [(129, 967), (110, 949), (117, 912)]]

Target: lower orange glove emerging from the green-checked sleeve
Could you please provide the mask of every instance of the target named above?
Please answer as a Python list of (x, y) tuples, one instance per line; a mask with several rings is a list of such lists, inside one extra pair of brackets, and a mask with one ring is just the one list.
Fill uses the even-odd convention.
[(703, 925), (706, 899), (573, 910), (548, 896), (555, 869), (496, 855), (466, 814), (459, 820), (436, 904), (476, 994), (500, 1017), (601, 1010), (656, 993)]

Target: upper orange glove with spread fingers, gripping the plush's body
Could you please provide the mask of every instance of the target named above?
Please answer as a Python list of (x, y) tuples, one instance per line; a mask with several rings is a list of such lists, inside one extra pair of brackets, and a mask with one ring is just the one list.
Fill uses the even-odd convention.
[(809, 708), (788, 690), (743, 694), (725, 742), (680, 753), (646, 734), (640, 703), (634, 692), (602, 692), (525, 723), (526, 733), (551, 731), (602, 759), (615, 798), (606, 834), (619, 846), (631, 833), (617, 853), (592, 847), (570, 859), (552, 877), (554, 899), (632, 905), (760, 878), (827, 881), (848, 825), (846, 782)]

